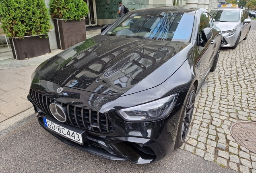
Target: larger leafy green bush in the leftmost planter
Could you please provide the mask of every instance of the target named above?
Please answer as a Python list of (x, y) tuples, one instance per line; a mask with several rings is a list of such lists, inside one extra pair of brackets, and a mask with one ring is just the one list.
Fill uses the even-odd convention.
[(47, 35), (51, 28), (44, 0), (1, 0), (0, 16), (3, 32), (10, 38)]

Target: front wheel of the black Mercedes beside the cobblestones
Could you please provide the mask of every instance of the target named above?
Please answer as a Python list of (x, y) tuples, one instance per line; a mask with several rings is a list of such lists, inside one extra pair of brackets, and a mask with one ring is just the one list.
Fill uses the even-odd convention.
[(185, 106), (183, 108), (182, 116), (180, 118), (180, 124), (178, 127), (178, 133), (175, 141), (175, 148), (181, 147), (188, 135), (188, 130), (191, 124), (193, 110), (194, 110), (195, 97), (196, 97), (196, 89), (195, 89), (195, 86), (193, 85), (190, 91), (188, 92), (188, 97), (186, 99), (186, 102), (184, 102)]

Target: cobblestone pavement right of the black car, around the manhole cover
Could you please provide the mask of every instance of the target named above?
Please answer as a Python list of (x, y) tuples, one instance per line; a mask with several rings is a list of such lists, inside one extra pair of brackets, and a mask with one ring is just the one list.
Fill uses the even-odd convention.
[(230, 127), (256, 122), (256, 30), (235, 50), (222, 48), (195, 102), (190, 132), (182, 149), (243, 173), (256, 173), (256, 154), (239, 145)]

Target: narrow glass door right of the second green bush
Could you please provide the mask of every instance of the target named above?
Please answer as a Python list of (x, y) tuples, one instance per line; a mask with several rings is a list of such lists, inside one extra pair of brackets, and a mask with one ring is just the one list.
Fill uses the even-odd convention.
[(97, 14), (95, 0), (84, 0), (89, 8), (88, 16), (85, 17), (86, 26), (97, 25)]

